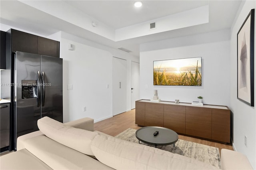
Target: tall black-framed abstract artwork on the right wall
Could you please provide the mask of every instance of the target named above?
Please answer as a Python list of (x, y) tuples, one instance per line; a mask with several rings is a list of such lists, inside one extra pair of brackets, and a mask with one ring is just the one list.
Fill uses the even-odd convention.
[(254, 106), (254, 9), (237, 33), (237, 99)]

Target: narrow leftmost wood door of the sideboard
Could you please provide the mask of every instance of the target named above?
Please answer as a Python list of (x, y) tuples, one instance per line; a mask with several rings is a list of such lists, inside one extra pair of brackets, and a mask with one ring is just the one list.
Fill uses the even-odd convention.
[(145, 126), (145, 102), (135, 102), (135, 124)]

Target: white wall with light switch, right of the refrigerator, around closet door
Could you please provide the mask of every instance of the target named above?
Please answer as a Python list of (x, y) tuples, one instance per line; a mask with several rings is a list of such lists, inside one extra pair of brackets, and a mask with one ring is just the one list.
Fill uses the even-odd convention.
[[(68, 50), (68, 44), (74, 51)], [(112, 117), (112, 57), (127, 60), (127, 110), (131, 108), (131, 61), (138, 57), (98, 43), (61, 33), (63, 58), (63, 121), (91, 117), (94, 122)], [(73, 84), (73, 90), (68, 90)], [(109, 89), (107, 89), (107, 84)], [(86, 106), (86, 112), (82, 108)]]

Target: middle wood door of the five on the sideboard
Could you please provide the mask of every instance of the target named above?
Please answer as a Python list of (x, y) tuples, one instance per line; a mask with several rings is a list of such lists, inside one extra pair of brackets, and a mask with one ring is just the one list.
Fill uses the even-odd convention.
[(164, 105), (164, 127), (185, 134), (186, 106)]

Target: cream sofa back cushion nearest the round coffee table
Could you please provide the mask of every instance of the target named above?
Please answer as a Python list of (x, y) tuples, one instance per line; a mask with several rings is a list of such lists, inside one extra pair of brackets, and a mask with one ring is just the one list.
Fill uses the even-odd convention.
[(179, 154), (100, 134), (92, 140), (91, 148), (100, 162), (117, 170), (219, 169)]

